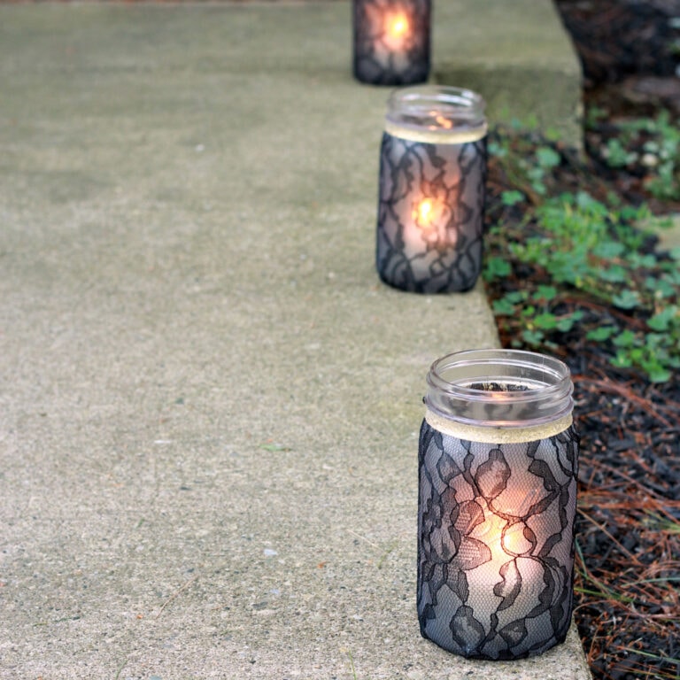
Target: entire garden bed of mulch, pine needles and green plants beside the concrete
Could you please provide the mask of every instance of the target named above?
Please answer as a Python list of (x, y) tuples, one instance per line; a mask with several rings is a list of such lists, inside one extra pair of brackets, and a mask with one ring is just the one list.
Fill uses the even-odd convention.
[(595, 680), (680, 677), (680, 2), (556, 0), (585, 153), (490, 140), (485, 285), (501, 342), (564, 359), (582, 436), (575, 619)]

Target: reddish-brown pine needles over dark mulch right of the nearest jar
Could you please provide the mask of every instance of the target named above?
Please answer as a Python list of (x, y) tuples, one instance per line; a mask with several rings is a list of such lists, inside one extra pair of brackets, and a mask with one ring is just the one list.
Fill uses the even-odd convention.
[(593, 675), (677, 678), (680, 405), (668, 394), (676, 390), (622, 376), (574, 379), (583, 437), (575, 615)]

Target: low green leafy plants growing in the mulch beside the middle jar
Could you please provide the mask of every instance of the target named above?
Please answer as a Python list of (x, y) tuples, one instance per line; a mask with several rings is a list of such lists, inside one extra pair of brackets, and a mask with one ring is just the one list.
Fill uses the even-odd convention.
[[(662, 118), (650, 123), (654, 129), (662, 124)], [(489, 234), (483, 273), (487, 282), (506, 281), (514, 267), (522, 272), (529, 267), (547, 282), (524, 288), (518, 277), (522, 290), (493, 301), (493, 312), (511, 343), (558, 346), (560, 334), (584, 319), (582, 311), (568, 311), (573, 305), (565, 301), (583, 298), (618, 310), (586, 333), (590, 342), (609, 352), (614, 366), (641, 370), (652, 382), (668, 381), (680, 367), (680, 249), (663, 254), (645, 245), (648, 235), (635, 226), (648, 216), (645, 207), (603, 203), (584, 191), (545, 197), (547, 173), (560, 165), (560, 154), (549, 146), (538, 146), (533, 156), (519, 161), (512, 160), (506, 141), (498, 142), (497, 149), (505, 150), (498, 158), (513, 164), (506, 175), (517, 177), (517, 188), (502, 193), (502, 204), (525, 200), (527, 186), (543, 197), (529, 206), (515, 233), (501, 225)]]

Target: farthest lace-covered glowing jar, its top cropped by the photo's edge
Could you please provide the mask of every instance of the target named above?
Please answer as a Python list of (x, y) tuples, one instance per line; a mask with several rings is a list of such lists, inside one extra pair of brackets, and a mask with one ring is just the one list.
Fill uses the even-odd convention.
[(354, 77), (372, 85), (428, 80), (430, 0), (354, 0)]

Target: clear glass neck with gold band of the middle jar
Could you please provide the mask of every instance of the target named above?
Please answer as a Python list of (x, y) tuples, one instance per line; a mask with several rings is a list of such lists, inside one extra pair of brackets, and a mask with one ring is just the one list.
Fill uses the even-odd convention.
[(466, 143), (488, 131), (482, 97), (470, 89), (416, 85), (388, 99), (385, 130), (414, 142)]

